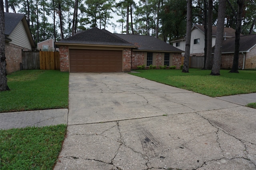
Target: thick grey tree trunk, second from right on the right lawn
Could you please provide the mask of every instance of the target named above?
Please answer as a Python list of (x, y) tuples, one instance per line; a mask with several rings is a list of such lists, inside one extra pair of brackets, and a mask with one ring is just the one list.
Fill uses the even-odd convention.
[(223, 32), (224, 32), (225, 11), (226, 11), (226, 0), (220, 0), (219, 7), (218, 7), (216, 43), (215, 43), (212, 72), (211, 72), (211, 75), (213, 76), (220, 75), (221, 48), (222, 48)]

